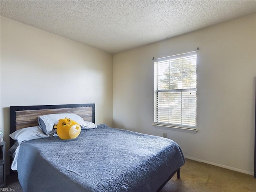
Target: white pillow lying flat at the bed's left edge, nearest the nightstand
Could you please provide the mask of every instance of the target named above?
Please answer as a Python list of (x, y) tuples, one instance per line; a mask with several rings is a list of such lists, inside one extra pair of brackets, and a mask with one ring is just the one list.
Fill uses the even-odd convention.
[(20, 144), (21, 142), (24, 142), (24, 141), (51, 137), (53, 135), (46, 135), (42, 132), (42, 129), (39, 126), (34, 126), (34, 127), (19, 129), (11, 133), (9, 136), (13, 140), (18, 141), (18, 143)]

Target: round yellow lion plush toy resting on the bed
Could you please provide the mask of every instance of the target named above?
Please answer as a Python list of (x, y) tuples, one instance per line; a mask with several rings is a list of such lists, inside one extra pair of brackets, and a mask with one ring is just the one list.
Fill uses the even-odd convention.
[(58, 124), (55, 124), (53, 128), (57, 129), (57, 134), (61, 139), (77, 138), (81, 132), (81, 126), (67, 117), (60, 119)]

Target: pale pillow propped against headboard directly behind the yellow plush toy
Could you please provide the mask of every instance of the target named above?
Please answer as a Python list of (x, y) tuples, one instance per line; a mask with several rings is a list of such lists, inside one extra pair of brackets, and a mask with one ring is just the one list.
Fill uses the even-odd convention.
[(54, 124), (58, 123), (60, 119), (64, 119), (65, 117), (70, 118), (80, 124), (80, 126), (83, 126), (84, 119), (74, 113), (42, 115), (38, 117), (38, 124), (45, 134), (53, 134), (56, 132), (56, 130), (53, 129)]

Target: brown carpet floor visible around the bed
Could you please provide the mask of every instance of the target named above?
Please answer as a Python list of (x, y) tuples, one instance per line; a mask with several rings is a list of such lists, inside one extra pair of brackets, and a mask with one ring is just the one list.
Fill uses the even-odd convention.
[[(6, 176), (6, 189), (23, 192), (17, 174)], [(186, 159), (180, 179), (175, 175), (160, 192), (256, 192), (256, 178)]]

